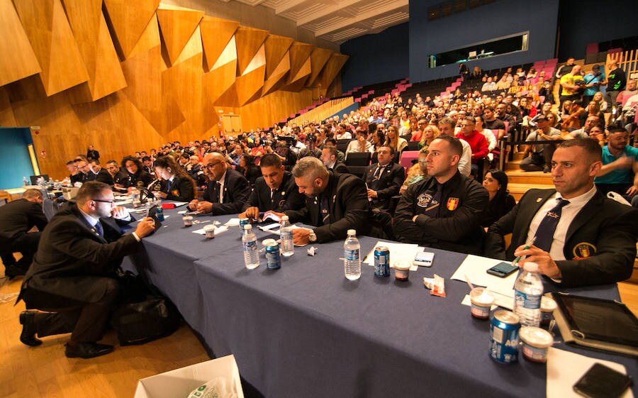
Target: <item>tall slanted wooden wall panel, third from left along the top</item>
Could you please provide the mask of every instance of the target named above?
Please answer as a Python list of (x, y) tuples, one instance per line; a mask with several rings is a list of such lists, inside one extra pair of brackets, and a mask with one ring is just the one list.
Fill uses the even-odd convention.
[(120, 60), (102, 15), (101, 0), (63, 0), (89, 81), (74, 87), (74, 102), (100, 99), (126, 87)]

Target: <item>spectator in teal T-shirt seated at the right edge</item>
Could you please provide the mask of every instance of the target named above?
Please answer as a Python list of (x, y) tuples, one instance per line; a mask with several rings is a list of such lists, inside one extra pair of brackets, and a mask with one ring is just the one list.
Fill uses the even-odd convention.
[(594, 183), (603, 194), (617, 192), (631, 201), (638, 193), (638, 148), (627, 145), (628, 138), (624, 128), (610, 129), (608, 144), (603, 147), (603, 165)]

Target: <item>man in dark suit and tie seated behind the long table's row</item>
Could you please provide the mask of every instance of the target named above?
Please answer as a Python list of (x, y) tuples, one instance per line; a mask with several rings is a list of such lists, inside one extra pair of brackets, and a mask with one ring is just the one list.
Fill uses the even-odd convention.
[(366, 167), (364, 181), (368, 189), (368, 200), (378, 209), (390, 209), (390, 199), (398, 195), (405, 179), (403, 166), (392, 161), (394, 150), (382, 146), (376, 151), (379, 162)]

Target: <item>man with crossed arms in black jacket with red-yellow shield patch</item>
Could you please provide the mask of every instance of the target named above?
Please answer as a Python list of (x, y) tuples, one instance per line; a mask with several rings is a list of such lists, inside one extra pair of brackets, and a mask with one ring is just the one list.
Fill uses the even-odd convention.
[(481, 221), (489, 194), (458, 170), (463, 146), (458, 138), (439, 136), (430, 143), (427, 179), (410, 185), (396, 206), (394, 233), (401, 242), (481, 254)]

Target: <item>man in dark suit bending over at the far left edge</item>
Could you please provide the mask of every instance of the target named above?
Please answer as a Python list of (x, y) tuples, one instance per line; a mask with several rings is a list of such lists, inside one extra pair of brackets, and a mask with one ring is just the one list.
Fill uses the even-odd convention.
[[(38, 189), (27, 189), (22, 199), (0, 206), (0, 255), (7, 277), (24, 275), (33, 261), (40, 233), (47, 225), (42, 201), (42, 193)], [(28, 233), (34, 226), (39, 231)], [(13, 258), (16, 252), (22, 254), (18, 262)]]

